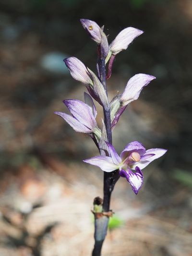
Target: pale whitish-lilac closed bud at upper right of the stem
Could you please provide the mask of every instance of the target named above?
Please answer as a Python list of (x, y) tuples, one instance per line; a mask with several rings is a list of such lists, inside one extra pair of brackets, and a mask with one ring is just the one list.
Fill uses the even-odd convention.
[(120, 33), (115, 37), (112, 43), (109, 45), (109, 49), (112, 51), (113, 55), (118, 54), (121, 50), (128, 48), (129, 44), (138, 36), (143, 34), (144, 31), (139, 30), (134, 27), (127, 27), (120, 31)]

